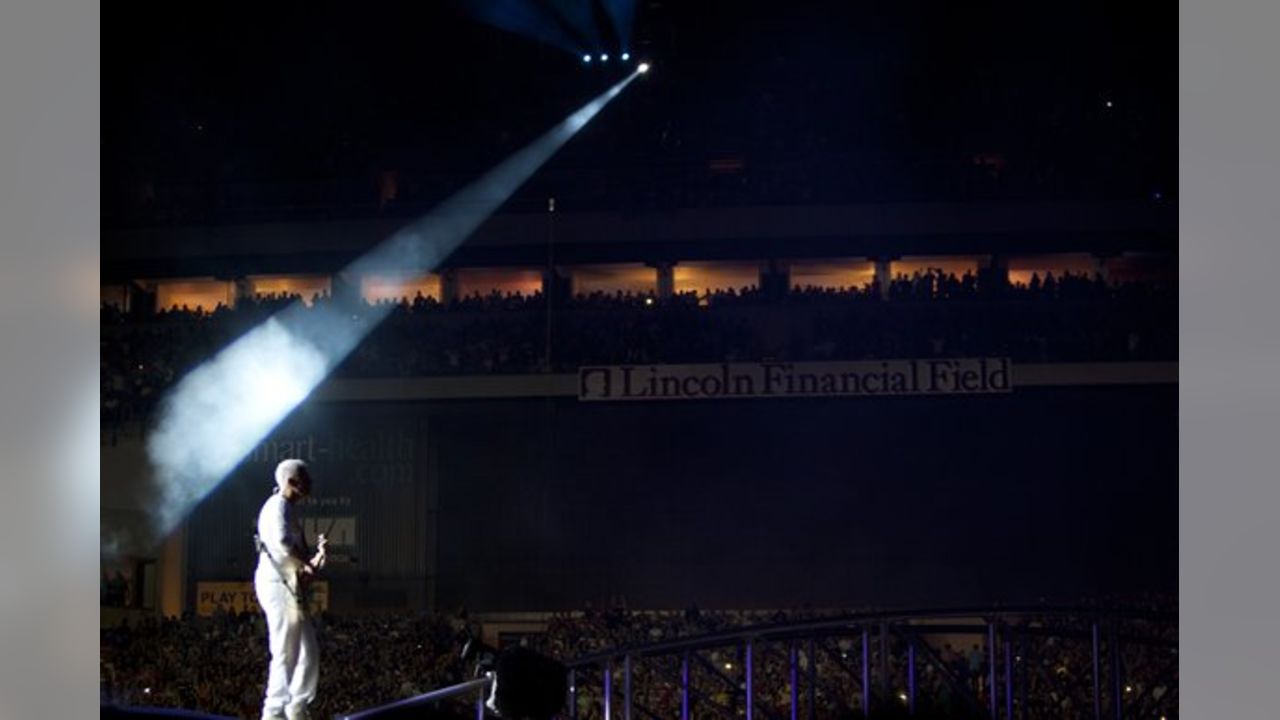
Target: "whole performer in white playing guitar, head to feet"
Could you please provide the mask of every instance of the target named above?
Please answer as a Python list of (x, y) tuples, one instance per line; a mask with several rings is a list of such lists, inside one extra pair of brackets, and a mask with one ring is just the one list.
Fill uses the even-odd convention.
[(307, 557), (296, 503), (311, 495), (311, 474), (302, 460), (275, 468), (275, 492), (257, 514), (259, 559), (253, 574), (257, 602), (266, 615), (271, 665), (262, 720), (305, 720), (316, 697), (320, 662), (316, 633), (307, 619), (306, 584), (325, 564), (325, 537)]

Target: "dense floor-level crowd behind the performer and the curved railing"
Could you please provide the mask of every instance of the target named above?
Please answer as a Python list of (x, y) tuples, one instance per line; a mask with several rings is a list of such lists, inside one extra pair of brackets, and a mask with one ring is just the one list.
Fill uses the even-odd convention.
[[(1123, 644), (1121, 689), (1125, 715), (1160, 717), (1176, 714), (1176, 623), (1166, 601), (1156, 616), (1135, 615), (1115, 630)], [(544, 632), (511, 642), (526, 644), (564, 662), (681, 638), (731, 633), (820, 620), (844, 611), (628, 611), (623, 609), (552, 615)], [(1076, 717), (1092, 711), (1091, 614), (1018, 615), (1009, 619), (1009, 651), (1014, 667), (1015, 712), (1027, 717)], [(475, 666), (460, 653), (467, 633), (465, 614), (401, 614), (316, 619), (321, 646), (317, 705), (312, 714), (330, 717), (403, 700), (462, 682)], [(1108, 633), (1111, 625), (1106, 626)], [(882, 644), (873, 630), (868, 659), (873, 708), (905, 710), (908, 643), (892, 633)], [(1110, 643), (1110, 634), (1103, 642)], [(256, 716), (266, 669), (266, 630), (256, 612), (219, 612), (211, 618), (148, 618), (101, 630), (101, 697), (118, 705), (196, 708)], [(989, 653), (986, 634), (950, 632), (920, 635), (916, 642), (916, 710), (948, 717), (980, 716), (989, 701)], [(1000, 702), (1004, 700), (1005, 648), (997, 641)], [(882, 651), (886, 653), (881, 656)], [(801, 715), (814, 702), (818, 717), (861, 716), (861, 639), (859, 632), (826, 634), (813, 642), (759, 641), (753, 648), (753, 692), (763, 716), (788, 716), (792, 653)], [(1110, 662), (1110, 644), (1103, 661)], [(745, 675), (742, 646), (723, 644), (690, 653), (694, 716), (740, 714)], [(632, 698), (654, 716), (675, 717), (680, 708), (680, 653), (632, 660)], [(622, 664), (614, 662), (614, 693), (623, 687)], [(579, 717), (602, 716), (600, 665), (575, 675)], [(1115, 684), (1103, 665), (1102, 700), (1111, 706)], [(617, 698), (617, 696), (616, 696)], [(699, 708), (700, 707), (700, 708)], [(892, 714), (892, 712), (891, 712)], [(878, 714), (877, 714), (878, 715)]]

